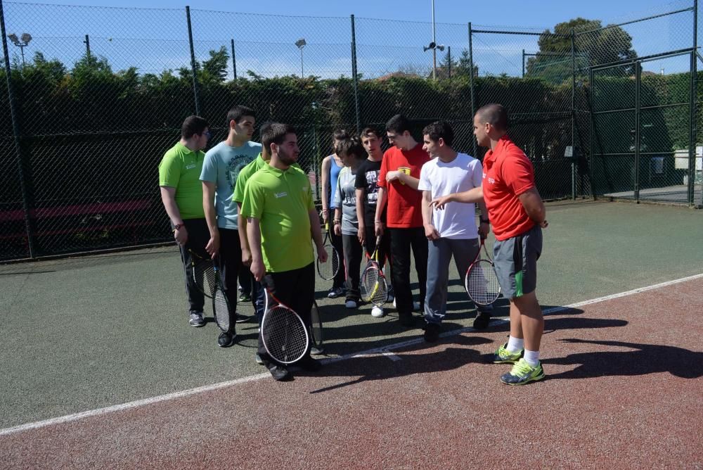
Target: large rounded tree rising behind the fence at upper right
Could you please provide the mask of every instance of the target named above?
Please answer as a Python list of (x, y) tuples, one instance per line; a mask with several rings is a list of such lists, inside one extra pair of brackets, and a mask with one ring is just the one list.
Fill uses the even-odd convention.
[[(572, 31), (576, 67), (627, 61), (637, 57), (632, 37), (619, 26), (602, 26), (600, 20), (574, 18), (558, 23), (554, 32), (545, 30), (538, 39), (539, 51), (527, 60), (526, 76), (562, 82), (572, 75)], [(631, 75), (633, 68), (624, 65), (616, 74)]]

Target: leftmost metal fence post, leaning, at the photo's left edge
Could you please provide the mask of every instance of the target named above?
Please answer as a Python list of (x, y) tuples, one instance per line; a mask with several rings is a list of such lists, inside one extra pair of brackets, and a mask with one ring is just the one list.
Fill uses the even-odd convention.
[(22, 211), (25, 218), (25, 231), (27, 231), (27, 247), (30, 251), (30, 258), (37, 257), (37, 250), (34, 248), (34, 230), (32, 229), (32, 218), (30, 217), (30, 196), (27, 190), (27, 179), (25, 174), (24, 158), (22, 158), (22, 140), (20, 136), (20, 122), (17, 113), (17, 103), (12, 86), (12, 70), (10, 68), (10, 53), (7, 49), (7, 34), (5, 31), (5, 12), (2, 0), (0, 0), (0, 34), (2, 34), (2, 50), (5, 58), (5, 76), (7, 78), (7, 94), (10, 101), (10, 115), (12, 119), (12, 132), (15, 140), (15, 160), (17, 161), (17, 172), (20, 180), (20, 191), (22, 192)]

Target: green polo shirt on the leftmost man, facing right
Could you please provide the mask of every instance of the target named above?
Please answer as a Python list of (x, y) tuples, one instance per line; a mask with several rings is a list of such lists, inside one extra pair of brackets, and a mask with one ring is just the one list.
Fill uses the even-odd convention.
[(159, 164), (159, 186), (176, 189), (176, 205), (181, 218), (203, 219), (200, 172), (205, 152), (192, 151), (180, 142), (164, 154)]

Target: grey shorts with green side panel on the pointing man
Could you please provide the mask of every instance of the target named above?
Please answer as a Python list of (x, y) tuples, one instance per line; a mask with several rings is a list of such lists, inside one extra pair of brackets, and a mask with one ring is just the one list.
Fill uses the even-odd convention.
[(542, 229), (535, 225), (523, 234), (496, 241), (494, 264), (503, 297), (531, 293), (537, 286), (537, 260), (542, 253)]

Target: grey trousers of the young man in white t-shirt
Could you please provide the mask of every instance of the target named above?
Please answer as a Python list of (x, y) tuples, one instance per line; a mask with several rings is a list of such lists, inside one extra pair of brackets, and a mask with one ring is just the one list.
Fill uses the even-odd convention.
[[(452, 256), (461, 277), (461, 285), (472, 261), (479, 251), (478, 239), (438, 239), (427, 241), (427, 298), (425, 321), (440, 324), (446, 315), (446, 293), (449, 286), (449, 262)], [(493, 305), (477, 305), (477, 310), (489, 313)]]

